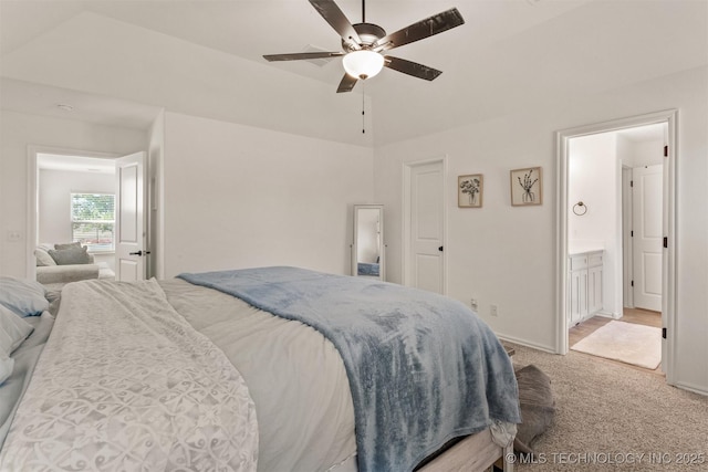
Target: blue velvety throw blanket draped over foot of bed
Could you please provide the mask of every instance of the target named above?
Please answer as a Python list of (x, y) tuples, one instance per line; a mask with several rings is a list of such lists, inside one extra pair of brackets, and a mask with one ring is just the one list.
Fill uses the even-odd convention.
[(521, 422), (509, 356), (457, 301), (295, 268), (179, 277), (302, 322), (334, 344), (352, 389), (360, 471), (409, 471), (491, 420)]

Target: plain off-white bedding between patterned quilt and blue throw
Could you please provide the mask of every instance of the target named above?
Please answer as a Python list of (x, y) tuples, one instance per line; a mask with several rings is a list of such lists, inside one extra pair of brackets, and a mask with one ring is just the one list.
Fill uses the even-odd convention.
[(159, 283), (246, 378), (260, 429), (259, 471), (356, 470), (352, 395), (332, 343), (231, 295), (179, 279)]

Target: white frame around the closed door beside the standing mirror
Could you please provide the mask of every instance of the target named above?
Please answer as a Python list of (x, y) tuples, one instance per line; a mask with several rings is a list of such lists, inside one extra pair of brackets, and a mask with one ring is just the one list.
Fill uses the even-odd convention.
[(447, 212), (448, 212), (448, 198), (447, 198), (447, 155), (445, 156), (440, 156), (440, 157), (435, 157), (435, 158), (430, 158), (430, 159), (423, 159), (423, 160), (413, 160), (413, 161), (408, 161), (408, 162), (403, 162), (403, 198), (400, 199), (400, 201), (403, 201), (403, 256), (400, 258), (402, 264), (400, 264), (400, 270), (402, 270), (402, 280), (403, 280), (403, 285), (404, 286), (412, 286), (412, 275), (409, 273), (410, 271), (410, 266), (413, 265), (410, 262), (410, 248), (413, 247), (413, 242), (412, 242), (412, 238), (410, 238), (410, 220), (412, 220), (412, 216), (410, 216), (410, 210), (412, 210), (412, 201), (410, 201), (410, 192), (413, 189), (413, 185), (412, 185), (412, 177), (413, 177), (413, 169), (415, 167), (418, 166), (425, 166), (428, 164), (436, 164), (439, 162), (442, 167), (442, 188), (440, 189), (440, 191), (442, 192), (442, 247), (444, 247), (444, 251), (442, 251), (442, 281), (441, 281), (441, 286), (442, 286), (442, 294), (447, 295), (447, 281), (448, 281), (448, 263), (447, 263), (447, 223), (448, 223), (448, 218), (447, 218)]

